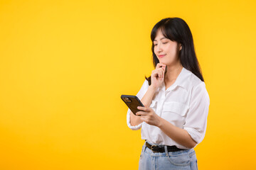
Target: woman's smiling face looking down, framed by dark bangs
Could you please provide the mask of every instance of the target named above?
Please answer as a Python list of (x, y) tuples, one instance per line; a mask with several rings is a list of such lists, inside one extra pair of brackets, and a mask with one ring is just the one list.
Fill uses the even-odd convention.
[(156, 38), (154, 39), (154, 53), (160, 63), (173, 65), (179, 62), (178, 52), (181, 50), (181, 45), (176, 41), (171, 41), (165, 38), (161, 30), (157, 30)]

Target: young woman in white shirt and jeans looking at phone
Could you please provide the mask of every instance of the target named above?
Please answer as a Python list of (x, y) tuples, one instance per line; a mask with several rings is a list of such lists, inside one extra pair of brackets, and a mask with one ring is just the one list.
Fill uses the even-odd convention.
[(137, 97), (145, 107), (127, 112), (127, 125), (146, 140), (139, 169), (198, 169), (193, 149), (206, 134), (210, 98), (191, 30), (181, 18), (164, 18), (151, 30), (155, 69)]

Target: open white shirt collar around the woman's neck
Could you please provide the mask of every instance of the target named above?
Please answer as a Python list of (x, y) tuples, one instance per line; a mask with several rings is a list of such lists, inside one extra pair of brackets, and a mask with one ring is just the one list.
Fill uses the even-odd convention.
[(186, 91), (188, 91), (188, 86), (189, 86), (189, 78), (191, 77), (191, 72), (188, 69), (185, 69), (184, 67), (181, 69), (180, 74), (178, 74), (178, 77), (176, 79), (176, 81), (174, 82), (174, 84), (172, 84), (168, 89), (166, 89), (165, 84), (163, 82), (163, 84), (161, 85), (160, 89), (165, 91), (172, 91), (174, 89), (176, 89), (177, 86), (181, 86), (184, 89), (186, 89)]

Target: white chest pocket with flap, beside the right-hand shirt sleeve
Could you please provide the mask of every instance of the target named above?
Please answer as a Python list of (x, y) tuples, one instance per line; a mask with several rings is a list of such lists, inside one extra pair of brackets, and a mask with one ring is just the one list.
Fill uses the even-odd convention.
[(185, 124), (188, 108), (189, 107), (183, 103), (178, 103), (175, 101), (165, 102), (161, 117), (173, 125), (182, 128), (182, 126)]

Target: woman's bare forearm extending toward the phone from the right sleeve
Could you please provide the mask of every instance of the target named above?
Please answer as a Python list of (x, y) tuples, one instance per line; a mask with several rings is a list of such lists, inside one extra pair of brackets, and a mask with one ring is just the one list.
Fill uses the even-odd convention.
[(192, 139), (191, 135), (189, 135), (186, 130), (172, 125), (164, 118), (160, 118), (158, 127), (175, 142), (188, 148), (193, 148), (196, 146), (196, 142)]

